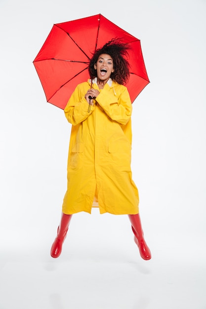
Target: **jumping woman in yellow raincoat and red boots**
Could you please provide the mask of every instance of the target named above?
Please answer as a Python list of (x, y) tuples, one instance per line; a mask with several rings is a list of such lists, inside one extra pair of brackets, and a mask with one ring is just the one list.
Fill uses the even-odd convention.
[(140, 255), (151, 259), (139, 217), (138, 190), (131, 177), (131, 113), (127, 88), (127, 46), (112, 40), (98, 49), (89, 64), (91, 79), (77, 86), (64, 112), (72, 124), (68, 187), (51, 256), (59, 257), (72, 215), (127, 214)]

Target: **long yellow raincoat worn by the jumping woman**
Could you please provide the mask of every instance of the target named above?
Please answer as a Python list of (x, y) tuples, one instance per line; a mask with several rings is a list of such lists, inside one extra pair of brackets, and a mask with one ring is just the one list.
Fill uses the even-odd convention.
[(137, 214), (138, 190), (131, 176), (131, 112), (127, 88), (112, 79), (100, 91), (88, 112), (84, 98), (90, 80), (77, 86), (65, 116), (72, 124), (68, 186), (62, 211), (91, 213), (94, 197), (100, 214)]

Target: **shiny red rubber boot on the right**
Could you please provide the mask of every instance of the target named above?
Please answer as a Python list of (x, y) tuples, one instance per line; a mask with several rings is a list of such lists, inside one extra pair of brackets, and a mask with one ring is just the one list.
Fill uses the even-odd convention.
[(151, 252), (144, 240), (144, 234), (142, 231), (142, 225), (139, 214), (137, 215), (128, 215), (129, 220), (131, 222), (131, 229), (134, 233), (134, 242), (137, 244), (139, 248), (139, 253), (142, 259), (150, 260)]

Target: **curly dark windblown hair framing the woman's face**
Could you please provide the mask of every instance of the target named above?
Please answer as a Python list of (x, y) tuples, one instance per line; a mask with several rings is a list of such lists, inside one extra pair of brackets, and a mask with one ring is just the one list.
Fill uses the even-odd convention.
[(127, 44), (121, 43), (120, 39), (112, 39), (107, 42), (103, 47), (97, 49), (89, 63), (89, 75), (93, 79), (97, 77), (97, 71), (94, 69), (99, 56), (101, 54), (108, 54), (113, 59), (114, 73), (111, 74), (111, 78), (119, 84), (125, 84), (129, 79), (129, 62), (126, 57), (128, 56)]

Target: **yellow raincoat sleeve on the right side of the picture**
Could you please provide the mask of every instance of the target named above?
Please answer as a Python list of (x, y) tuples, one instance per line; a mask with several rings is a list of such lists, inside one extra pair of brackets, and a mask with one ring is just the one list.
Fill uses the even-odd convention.
[(119, 97), (106, 89), (102, 89), (96, 97), (96, 101), (112, 120), (125, 125), (131, 117), (132, 105), (126, 87), (122, 86)]

